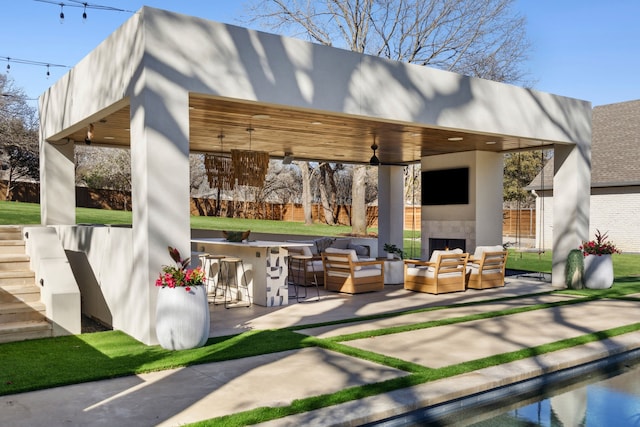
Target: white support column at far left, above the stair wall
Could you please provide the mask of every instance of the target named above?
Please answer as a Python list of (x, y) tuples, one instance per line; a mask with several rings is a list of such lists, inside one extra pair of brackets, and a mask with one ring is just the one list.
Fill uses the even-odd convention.
[(74, 142), (47, 142), (40, 136), (40, 222), (42, 225), (76, 223)]

